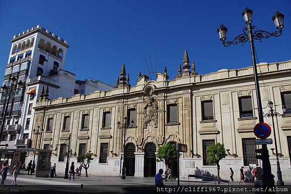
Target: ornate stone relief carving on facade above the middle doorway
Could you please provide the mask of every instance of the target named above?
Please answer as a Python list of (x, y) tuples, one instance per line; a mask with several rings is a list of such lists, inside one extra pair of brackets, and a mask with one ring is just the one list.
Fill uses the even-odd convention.
[(153, 95), (154, 89), (151, 86), (146, 87), (145, 94), (147, 95), (144, 100), (144, 124), (143, 128), (146, 129), (147, 125), (152, 121), (155, 128), (158, 128), (158, 102)]

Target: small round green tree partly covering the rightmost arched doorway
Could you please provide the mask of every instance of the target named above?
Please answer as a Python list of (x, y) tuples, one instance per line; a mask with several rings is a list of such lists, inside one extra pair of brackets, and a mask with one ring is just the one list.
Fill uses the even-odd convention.
[(177, 158), (178, 152), (176, 151), (176, 146), (173, 143), (167, 143), (158, 149), (156, 155), (157, 162), (163, 162), (166, 166), (165, 172), (168, 171), (169, 165), (173, 160)]

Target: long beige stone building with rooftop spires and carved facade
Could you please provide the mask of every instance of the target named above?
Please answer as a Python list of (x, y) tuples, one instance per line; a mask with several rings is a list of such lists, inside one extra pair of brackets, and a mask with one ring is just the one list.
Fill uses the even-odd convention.
[[(253, 127), (259, 120), (252, 67), (197, 75), (185, 50), (182, 68), (180, 65), (173, 80), (169, 80), (166, 68), (157, 73), (156, 80), (140, 73), (136, 85), (131, 86), (123, 65), (113, 90), (52, 101), (40, 99), (33, 126), (45, 131), (41, 148), (53, 150), (51, 162), (57, 163), (57, 171), (63, 173), (65, 141), (71, 134), (70, 162), (77, 162), (78, 154), (90, 151), (94, 154), (90, 175), (119, 176), (124, 146), (120, 125), (127, 122), (127, 176), (154, 176), (164, 166), (156, 162), (156, 150), (169, 142), (188, 146), (188, 152), (180, 158), (181, 177), (216, 175), (216, 167), (206, 161), (206, 148), (215, 142), (223, 143), (228, 151), (220, 162), (222, 179), (228, 179), (229, 167), (239, 179), (241, 166), (260, 166), (255, 158)], [(275, 128), (283, 179), (290, 180), (291, 61), (260, 63), (258, 70), (263, 107), (272, 100), (277, 112), (282, 113), (282, 104), (288, 108), (286, 116), (275, 118)], [(270, 119), (265, 122), (272, 123)], [(271, 150), (269, 154), (275, 174), (275, 156)], [(170, 167), (177, 173), (177, 161)]]

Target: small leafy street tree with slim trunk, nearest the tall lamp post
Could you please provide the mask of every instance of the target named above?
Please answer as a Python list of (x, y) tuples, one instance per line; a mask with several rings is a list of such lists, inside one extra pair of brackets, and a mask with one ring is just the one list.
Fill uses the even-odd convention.
[[(226, 149), (224, 147), (224, 144), (221, 143), (216, 143), (209, 145), (206, 149), (207, 153), (207, 162), (209, 163), (214, 163), (217, 166), (217, 179), (220, 179), (219, 177), (219, 170), (220, 170), (220, 165), (219, 161), (223, 158), (226, 157)], [(218, 181), (218, 183), (220, 183)]]

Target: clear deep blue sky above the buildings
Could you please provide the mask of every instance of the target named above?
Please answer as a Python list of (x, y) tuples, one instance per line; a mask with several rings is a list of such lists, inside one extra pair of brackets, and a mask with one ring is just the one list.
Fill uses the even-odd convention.
[[(131, 85), (139, 71), (178, 74), (184, 49), (198, 74), (250, 66), (250, 46), (224, 47), (217, 28), (224, 24), (228, 39), (245, 27), (242, 11), (253, 10), (253, 25), (274, 31), (275, 11), (285, 15), (283, 34), (256, 41), (259, 62), (291, 59), (291, 1), (253, 0), (14, 0), (0, 6), (0, 79), (15, 34), (41, 24), (68, 41), (65, 69), (78, 79), (94, 78), (114, 85), (122, 63)], [(146, 56), (146, 60), (145, 60)], [(150, 67), (151, 69), (151, 67)]]

